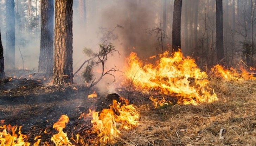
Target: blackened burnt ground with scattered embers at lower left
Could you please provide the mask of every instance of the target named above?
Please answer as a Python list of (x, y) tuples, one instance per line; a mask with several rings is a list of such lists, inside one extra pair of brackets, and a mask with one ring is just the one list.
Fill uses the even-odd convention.
[[(90, 119), (79, 119), (80, 115), (88, 113), (89, 108), (101, 107), (102, 110), (108, 106), (108, 103), (102, 102), (105, 97), (101, 95), (94, 99), (87, 98), (93, 89), (83, 85), (53, 86), (48, 83), (51, 80), (49, 77), (27, 70), (7, 71), (6, 75), (0, 80), (0, 120), (4, 120), (3, 124), (22, 126), (21, 132), (28, 135), (31, 144), (37, 135), (42, 136), (41, 144), (45, 141), (51, 144), (52, 134), (57, 133), (52, 125), (63, 114), (70, 119), (64, 129), (68, 137), (88, 133), (85, 131), (90, 132)], [(96, 136), (83, 134), (87, 140)]]

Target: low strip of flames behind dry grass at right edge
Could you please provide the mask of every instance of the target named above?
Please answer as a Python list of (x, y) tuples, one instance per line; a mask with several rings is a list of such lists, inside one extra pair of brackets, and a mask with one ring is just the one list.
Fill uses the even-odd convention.
[(254, 79), (253, 75), (247, 72), (243, 67), (240, 67), (241, 73), (236, 69), (230, 68), (229, 70), (223, 68), (221, 65), (215, 65), (211, 71), (216, 77), (226, 80), (251, 80)]

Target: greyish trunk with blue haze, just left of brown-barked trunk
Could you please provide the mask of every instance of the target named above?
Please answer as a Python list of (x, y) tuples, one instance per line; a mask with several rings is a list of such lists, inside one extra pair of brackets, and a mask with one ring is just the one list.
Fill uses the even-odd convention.
[(41, 0), (39, 73), (52, 74), (53, 70), (53, 15), (53, 0)]

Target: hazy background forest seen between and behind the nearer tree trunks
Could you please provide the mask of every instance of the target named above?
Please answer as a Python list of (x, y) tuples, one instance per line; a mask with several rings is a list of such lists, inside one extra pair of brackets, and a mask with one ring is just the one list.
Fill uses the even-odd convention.
[[(82, 64), (84, 47), (97, 51), (104, 40), (113, 42), (122, 55), (135, 51), (144, 58), (161, 53), (162, 48), (166, 50), (172, 44), (174, 0), (86, 0), (85, 5), (82, 2), (73, 1), (74, 70)], [(216, 64), (215, 10), (215, 0), (182, 3), (181, 49), (197, 59), (200, 67)], [(5, 13), (5, 1), (1, 0), (2, 34), (6, 28)], [(255, 0), (223, 0), (224, 56), (228, 66), (235, 66), (240, 60), (254, 66), (255, 14)], [(15, 0), (15, 22), (16, 67), (22, 66), (20, 48), (25, 68), (37, 70), (40, 1)], [(5, 35), (2, 42), (5, 46)]]

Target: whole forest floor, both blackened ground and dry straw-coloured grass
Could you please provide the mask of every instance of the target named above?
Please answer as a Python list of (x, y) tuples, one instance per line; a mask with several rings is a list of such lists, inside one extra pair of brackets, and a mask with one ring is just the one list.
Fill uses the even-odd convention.
[[(57, 131), (52, 125), (61, 115), (70, 121), (64, 132), (68, 137), (79, 133), (86, 142), (96, 137), (88, 135), (90, 119), (80, 115), (106, 108), (107, 95), (87, 98), (92, 89), (83, 85), (52, 86), (49, 77), (33, 71), (6, 71), (0, 80), (1, 124), (22, 126), (21, 132), (32, 144), (41, 135), (41, 144), (52, 145), (50, 138)], [(145, 146), (254, 146), (256, 143), (256, 81), (225, 81), (210, 79), (218, 101), (211, 104), (169, 105), (153, 109), (148, 95), (120, 90), (140, 109), (140, 125), (121, 131), (115, 145)], [(96, 91), (97, 92), (97, 91)], [(141, 105), (149, 104), (149, 107)], [(44, 132), (45, 131), (45, 132)]]

